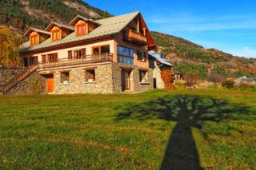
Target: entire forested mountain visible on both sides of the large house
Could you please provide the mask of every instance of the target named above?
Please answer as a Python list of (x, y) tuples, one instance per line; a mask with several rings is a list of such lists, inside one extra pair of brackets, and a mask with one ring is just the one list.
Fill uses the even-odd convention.
[[(29, 26), (45, 28), (50, 21), (68, 24), (80, 14), (86, 18), (107, 18), (107, 11), (99, 10), (82, 0), (0, 0), (0, 25), (9, 26), (22, 34)], [(205, 49), (183, 38), (151, 32), (159, 52), (166, 54), (182, 73), (197, 71), (203, 79), (215, 72), (225, 77), (255, 77), (256, 59), (234, 57), (218, 49)]]

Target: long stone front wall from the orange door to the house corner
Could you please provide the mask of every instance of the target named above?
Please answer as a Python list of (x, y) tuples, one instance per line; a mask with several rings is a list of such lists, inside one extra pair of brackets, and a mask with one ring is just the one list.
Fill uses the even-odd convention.
[[(85, 68), (78, 67), (66, 69), (70, 72), (70, 83), (61, 83), (61, 72), (65, 69), (55, 71), (54, 73), (54, 94), (74, 94), (74, 93), (120, 93), (118, 88), (118, 68), (113, 63), (96, 65), (95, 81), (86, 82)], [(121, 84), (121, 83), (120, 83)]]

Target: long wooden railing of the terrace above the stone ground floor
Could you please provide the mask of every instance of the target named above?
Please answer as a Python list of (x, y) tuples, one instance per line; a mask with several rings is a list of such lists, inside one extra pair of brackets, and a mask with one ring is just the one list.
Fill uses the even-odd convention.
[(99, 63), (106, 61), (113, 61), (113, 53), (100, 53), (94, 55), (86, 55), (80, 57), (69, 57), (69, 58), (60, 58), (56, 61), (45, 61), (38, 62), (38, 69), (47, 69), (52, 67), (67, 66), (67, 65), (82, 65), (90, 63)]

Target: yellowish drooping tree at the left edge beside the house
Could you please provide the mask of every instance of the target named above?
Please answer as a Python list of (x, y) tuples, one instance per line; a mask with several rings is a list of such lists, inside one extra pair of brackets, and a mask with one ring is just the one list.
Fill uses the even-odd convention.
[(0, 65), (19, 65), (22, 38), (6, 27), (0, 28)]

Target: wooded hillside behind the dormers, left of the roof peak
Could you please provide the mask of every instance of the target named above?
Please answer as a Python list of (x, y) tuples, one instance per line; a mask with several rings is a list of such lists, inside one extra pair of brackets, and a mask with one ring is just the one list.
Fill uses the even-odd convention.
[(106, 11), (82, 0), (1, 0), (0, 25), (12, 26), (19, 32), (28, 26), (46, 27), (50, 21), (66, 23), (80, 14), (86, 18), (110, 17)]

